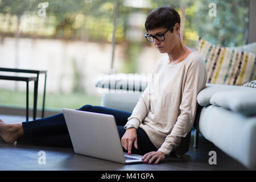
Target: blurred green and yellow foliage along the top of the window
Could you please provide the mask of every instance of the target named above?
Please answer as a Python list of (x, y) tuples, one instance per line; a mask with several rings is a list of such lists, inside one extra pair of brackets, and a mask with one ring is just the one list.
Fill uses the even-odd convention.
[[(249, 22), (249, 0), (197, 0), (167, 1), (151, 0), (148, 8), (124, 6), (125, 0), (119, 0), (117, 22), (117, 42), (127, 42), (125, 34), (129, 14), (140, 11), (150, 13), (158, 6), (176, 7), (181, 18), (185, 9), (184, 42), (195, 47), (197, 36), (203, 36), (212, 43), (222, 46), (240, 46), (245, 44)], [(145, 0), (146, 1), (146, 0)], [(82, 39), (110, 42), (113, 31), (114, 0), (48, 0), (46, 16), (39, 17), (42, 1), (39, 0), (1, 0), (0, 34), (15, 33), (18, 20), (26, 22), (20, 36), (32, 38)], [(90, 3), (91, 2), (91, 3)], [(217, 16), (208, 15), (209, 4), (215, 3)], [(144, 24), (142, 24), (142, 27)], [(143, 36), (143, 35), (142, 35)], [(146, 42), (146, 40), (143, 40)]]

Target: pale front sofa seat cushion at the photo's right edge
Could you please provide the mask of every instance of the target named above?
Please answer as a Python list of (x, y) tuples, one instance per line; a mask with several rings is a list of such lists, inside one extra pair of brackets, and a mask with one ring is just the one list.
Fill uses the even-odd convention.
[(253, 115), (256, 114), (256, 89), (217, 92), (210, 98), (210, 104)]

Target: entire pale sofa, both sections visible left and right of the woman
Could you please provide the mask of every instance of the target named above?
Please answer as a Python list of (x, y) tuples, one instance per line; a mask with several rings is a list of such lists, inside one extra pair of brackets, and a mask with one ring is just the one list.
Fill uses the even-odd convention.
[[(95, 85), (105, 90), (101, 105), (132, 112), (147, 82), (141, 79), (135, 84), (135, 77), (139, 76), (98, 78)], [(120, 87), (120, 82), (127, 85)], [(202, 134), (246, 168), (256, 169), (256, 88), (207, 83), (197, 95), (197, 102), (195, 136)]]

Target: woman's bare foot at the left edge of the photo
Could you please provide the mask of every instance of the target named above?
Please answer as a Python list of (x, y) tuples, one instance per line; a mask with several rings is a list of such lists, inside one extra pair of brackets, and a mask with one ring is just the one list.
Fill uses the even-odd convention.
[(6, 143), (14, 143), (22, 135), (22, 123), (7, 124), (0, 119), (0, 139)]

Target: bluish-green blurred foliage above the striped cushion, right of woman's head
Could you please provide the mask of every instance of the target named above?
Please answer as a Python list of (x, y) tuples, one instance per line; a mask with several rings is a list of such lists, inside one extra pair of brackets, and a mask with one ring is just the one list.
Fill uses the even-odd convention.
[[(216, 3), (216, 17), (207, 15), (210, 3)], [(233, 47), (246, 44), (249, 0), (201, 0), (196, 1), (194, 5), (197, 13), (191, 19), (191, 25), (199, 36), (219, 46)]]

